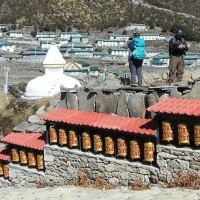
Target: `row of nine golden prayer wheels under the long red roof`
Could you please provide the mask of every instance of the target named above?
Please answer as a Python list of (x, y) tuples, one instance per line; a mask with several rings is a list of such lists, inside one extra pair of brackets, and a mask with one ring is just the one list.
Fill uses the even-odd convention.
[[(64, 129), (59, 129), (57, 134), (55, 128), (50, 128), (49, 143), (79, 148), (79, 134), (75, 130), (69, 130), (67, 133)], [(100, 134), (83, 132), (81, 133), (81, 145), (81, 149), (84, 151), (92, 150), (95, 153), (105, 153), (110, 156), (115, 155), (116, 152), (118, 157), (130, 157), (131, 159), (144, 157), (144, 161), (147, 162), (155, 160), (155, 144), (153, 142), (144, 143), (142, 148), (136, 140), (127, 142), (124, 138), (118, 138), (115, 147), (114, 138), (111, 136), (102, 137)], [(144, 156), (141, 155), (142, 152), (144, 152)]]

